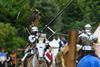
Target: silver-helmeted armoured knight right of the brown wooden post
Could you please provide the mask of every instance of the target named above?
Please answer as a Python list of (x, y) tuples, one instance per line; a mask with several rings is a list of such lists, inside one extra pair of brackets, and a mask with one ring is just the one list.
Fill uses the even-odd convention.
[(85, 55), (91, 54), (93, 52), (92, 49), (92, 33), (91, 33), (91, 25), (86, 24), (85, 30), (78, 36), (78, 45), (77, 47), (80, 48), (78, 51), (78, 61)]

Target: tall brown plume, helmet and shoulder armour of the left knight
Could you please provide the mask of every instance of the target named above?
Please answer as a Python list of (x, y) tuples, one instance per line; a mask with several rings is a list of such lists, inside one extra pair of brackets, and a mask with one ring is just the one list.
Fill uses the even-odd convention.
[(36, 40), (39, 37), (39, 33), (38, 33), (38, 24), (39, 24), (39, 20), (40, 20), (40, 16), (39, 16), (39, 11), (37, 9), (35, 9), (32, 13), (32, 15), (30, 16), (30, 20), (31, 20), (31, 34), (28, 37), (28, 40), (31, 44), (35, 43)]

